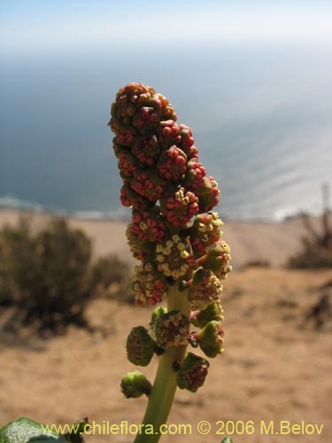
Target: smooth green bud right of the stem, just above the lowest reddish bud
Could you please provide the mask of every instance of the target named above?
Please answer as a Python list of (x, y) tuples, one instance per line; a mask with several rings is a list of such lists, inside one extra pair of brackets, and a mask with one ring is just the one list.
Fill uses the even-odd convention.
[(224, 349), (224, 329), (220, 322), (212, 320), (205, 325), (203, 330), (192, 335), (197, 340), (199, 347), (207, 357), (214, 358), (218, 354), (222, 354)]

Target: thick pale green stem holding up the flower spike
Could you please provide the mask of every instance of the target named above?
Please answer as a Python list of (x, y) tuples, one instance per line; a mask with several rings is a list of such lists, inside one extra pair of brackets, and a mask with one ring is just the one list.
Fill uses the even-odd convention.
[[(180, 292), (178, 287), (179, 284), (176, 283), (168, 291), (167, 310), (177, 309), (189, 317), (190, 304), (187, 291)], [(162, 424), (166, 424), (176, 391), (176, 372), (173, 363), (182, 360), (186, 349), (187, 345), (174, 346), (161, 355), (148, 407), (143, 417), (142, 433), (137, 434), (134, 443), (157, 443), (160, 439), (161, 434), (155, 432), (158, 432)]]

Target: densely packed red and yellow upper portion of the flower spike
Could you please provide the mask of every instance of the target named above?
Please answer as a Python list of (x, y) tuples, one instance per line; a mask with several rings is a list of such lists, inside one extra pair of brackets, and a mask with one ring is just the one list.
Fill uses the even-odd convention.
[[(218, 297), (219, 280), (230, 270), (227, 245), (220, 241), (222, 222), (210, 213), (219, 202), (218, 184), (198, 160), (191, 129), (176, 122), (174, 107), (150, 86), (128, 83), (121, 88), (111, 115), (113, 150), (123, 179), (120, 200), (133, 210), (128, 244), (143, 262), (135, 273), (136, 303), (157, 303), (167, 284), (190, 281), (204, 268), (209, 275), (199, 288), (193, 285), (189, 296), (194, 306), (204, 307)], [(213, 260), (220, 263), (217, 269)], [(150, 278), (146, 263), (157, 263), (149, 266)], [(158, 289), (152, 287), (155, 280)], [(205, 288), (210, 295), (203, 302), (198, 294)]]

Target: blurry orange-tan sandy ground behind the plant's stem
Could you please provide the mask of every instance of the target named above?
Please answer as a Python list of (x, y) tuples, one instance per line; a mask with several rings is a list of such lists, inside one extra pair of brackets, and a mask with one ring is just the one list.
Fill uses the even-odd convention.
[[(0, 220), (10, 221), (11, 217), (11, 211), (2, 211)], [(117, 251), (123, 258), (127, 256), (126, 242), (120, 237), (123, 223), (73, 224), (95, 234), (95, 245), (101, 248), (98, 253)], [(270, 260), (274, 265), (282, 262), (281, 256), (285, 260), (285, 248), (293, 245), (288, 251), (294, 252), (298, 246), (293, 237), (300, 234), (294, 224), (229, 222), (225, 237), (227, 232), (236, 267), (245, 262), (243, 257)], [(237, 256), (236, 250), (243, 255)], [(315, 321), (306, 317), (327, 293), (325, 286), (331, 277), (330, 270), (235, 270), (222, 296), (226, 352), (211, 361), (205, 385), (196, 394), (177, 391), (169, 417), (169, 424), (190, 424), (192, 435), (165, 436), (161, 441), (220, 443), (223, 436), (216, 435), (221, 431), (219, 421), (252, 421), (253, 433), (235, 435), (235, 443), (331, 441), (332, 325), (329, 320), (317, 330)], [(72, 423), (84, 416), (97, 424), (140, 423), (146, 399), (124, 399), (119, 385), (122, 375), (134, 369), (125, 353), (127, 333), (135, 325), (147, 326), (150, 312), (97, 299), (87, 315), (97, 328), (93, 333), (72, 327), (66, 336), (43, 341), (27, 337), (14, 345), (11, 340), (0, 340), (0, 427), (19, 416), (31, 416), (43, 424)], [(143, 369), (151, 380), (156, 363)], [(206, 436), (197, 432), (202, 420), (212, 426)], [(262, 422), (267, 425), (270, 421), (274, 431), (279, 431), (281, 421), (323, 424), (323, 429), (321, 435), (261, 435)], [(241, 432), (241, 423), (237, 426)], [(87, 438), (88, 443), (133, 440), (128, 435)]]

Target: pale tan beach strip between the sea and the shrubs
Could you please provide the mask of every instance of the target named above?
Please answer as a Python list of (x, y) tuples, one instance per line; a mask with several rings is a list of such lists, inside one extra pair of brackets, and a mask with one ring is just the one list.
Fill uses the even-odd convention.
[[(136, 263), (127, 246), (129, 218), (84, 218), (77, 214), (3, 206), (0, 207), (0, 228), (5, 224), (14, 225), (22, 215), (31, 221), (32, 229), (41, 228), (52, 216), (65, 216), (73, 228), (84, 230), (92, 239), (96, 257), (112, 253), (133, 266)], [(320, 217), (310, 216), (310, 221), (315, 229), (320, 228)], [(223, 239), (231, 246), (235, 269), (254, 261), (266, 261), (271, 267), (280, 268), (301, 248), (301, 238), (307, 234), (301, 215), (283, 221), (226, 220), (222, 230)]]

